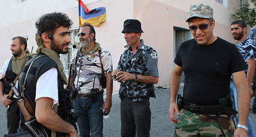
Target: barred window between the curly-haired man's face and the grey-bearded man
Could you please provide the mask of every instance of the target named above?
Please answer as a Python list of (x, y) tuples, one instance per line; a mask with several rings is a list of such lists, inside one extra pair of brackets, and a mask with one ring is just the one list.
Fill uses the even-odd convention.
[(69, 52), (67, 54), (60, 54), (60, 60), (63, 64), (64, 71), (68, 72), (70, 69), (70, 62), (72, 60), (73, 52), (74, 50), (78, 49), (78, 45), (80, 44), (78, 33), (79, 33), (79, 28), (74, 28), (70, 30), (70, 39), (71, 43), (76, 45), (76, 48), (73, 48), (73, 45), (69, 45)]

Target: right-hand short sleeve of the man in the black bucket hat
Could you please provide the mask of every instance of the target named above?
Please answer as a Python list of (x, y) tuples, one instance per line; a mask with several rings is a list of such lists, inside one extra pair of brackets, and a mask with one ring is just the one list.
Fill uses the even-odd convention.
[(144, 72), (144, 75), (150, 75), (150, 76), (156, 76), (158, 77), (158, 58), (157, 58), (157, 52), (153, 50), (147, 58), (146, 62), (146, 71)]

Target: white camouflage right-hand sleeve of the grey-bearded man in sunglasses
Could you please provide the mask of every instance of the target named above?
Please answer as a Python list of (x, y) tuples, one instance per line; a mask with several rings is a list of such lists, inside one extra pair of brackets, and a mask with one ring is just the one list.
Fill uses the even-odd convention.
[(102, 65), (105, 73), (109, 73), (110, 71), (113, 71), (113, 62), (111, 54), (108, 50), (107, 52), (103, 52), (103, 58), (102, 58)]

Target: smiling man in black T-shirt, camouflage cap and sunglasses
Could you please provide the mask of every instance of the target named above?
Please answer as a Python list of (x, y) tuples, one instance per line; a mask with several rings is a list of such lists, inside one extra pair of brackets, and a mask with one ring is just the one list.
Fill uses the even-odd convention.
[[(239, 93), (239, 125), (234, 136), (247, 136), (249, 89), (246, 65), (235, 45), (215, 37), (213, 9), (193, 5), (187, 12), (194, 39), (181, 43), (170, 76), (170, 120), (176, 123), (175, 136), (232, 136), (230, 76)], [(176, 96), (181, 74), (185, 81), (183, 97)], [(177, 113), (178, 119), (174, 117)]]

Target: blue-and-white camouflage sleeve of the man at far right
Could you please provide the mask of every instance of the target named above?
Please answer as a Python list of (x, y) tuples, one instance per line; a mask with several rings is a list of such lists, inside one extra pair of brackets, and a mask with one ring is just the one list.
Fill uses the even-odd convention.
[(245, 49), (245, 61), (247, 62), (251, 57), (253, 60), (256, 60), (256, 45), (252, 40), (249, 40), (248, 45)]

